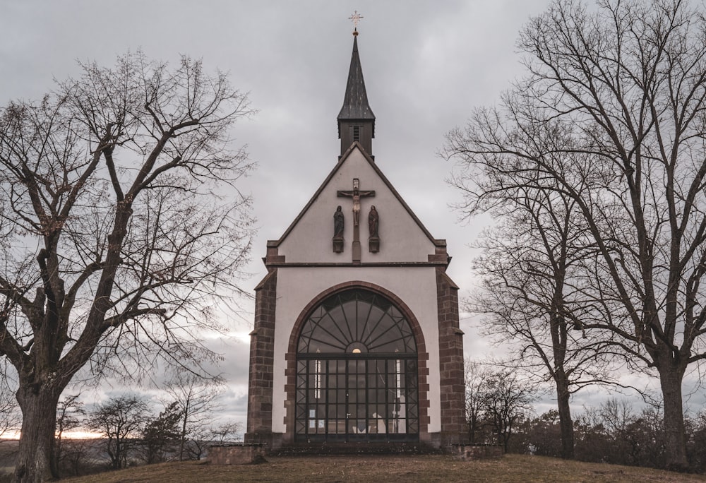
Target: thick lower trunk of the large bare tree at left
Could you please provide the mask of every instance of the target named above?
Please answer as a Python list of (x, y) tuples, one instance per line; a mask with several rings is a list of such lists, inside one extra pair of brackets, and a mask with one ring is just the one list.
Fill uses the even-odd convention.
[(16, 483), (39, 483), (59, 477), (54, 461), (54, 431), (59, 395), (61, 390), (20, 383), (17, 400), (23, 417), (15, 466)]

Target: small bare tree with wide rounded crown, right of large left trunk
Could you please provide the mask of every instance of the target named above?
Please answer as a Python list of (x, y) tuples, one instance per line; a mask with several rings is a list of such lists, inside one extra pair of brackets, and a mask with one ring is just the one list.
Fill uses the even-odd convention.
[(136, 395), (121, 395), (99, 405), (88, 417), (88, 427), (105, 439), (105, 451), (114, 470), (128, 465), (148, 419), (147, 403)]

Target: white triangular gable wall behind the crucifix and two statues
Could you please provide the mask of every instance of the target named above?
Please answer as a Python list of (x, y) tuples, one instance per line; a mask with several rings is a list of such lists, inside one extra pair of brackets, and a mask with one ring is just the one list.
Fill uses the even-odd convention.
[[(434, 253), (434, 245), (407, 213), (388, 186), (378, 177), (370, 163), (358, 149), (343, 162), (335, 176), (319, 193), (309, 210), (289, 232), (279, 246), (279, 254), (292, 262), (350, 263), (353, 242), (353, 203), (351, 198), (338, 198), (339, 190), (353, 189), (353, 179), (360, 179), (361, 191), (375, 191), (374, 197), (361, 198), (360, 241), (361, 262), (413, 262), (428, 261)], [(345, 215), (344, 251), (333, 253), (333, 213), (341, 205)], [(368, 251), (368, 213), (375, 205), (380, 216), (380, 251)], [(422, 220), (424, 221), (424, 220)]]

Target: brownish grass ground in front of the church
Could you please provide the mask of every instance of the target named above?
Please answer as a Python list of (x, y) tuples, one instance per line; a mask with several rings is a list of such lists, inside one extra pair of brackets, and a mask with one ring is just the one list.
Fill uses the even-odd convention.
[(554, 458), (505, 455), (499, 460), (460, 461), (449, 455), (352, 455), (268, 457), (258, 465), (163, 463), (62, 479), (67, 483), (136, 482), (706, 482), (706, 475), (681, 475), (647, 468), (578, 463)]

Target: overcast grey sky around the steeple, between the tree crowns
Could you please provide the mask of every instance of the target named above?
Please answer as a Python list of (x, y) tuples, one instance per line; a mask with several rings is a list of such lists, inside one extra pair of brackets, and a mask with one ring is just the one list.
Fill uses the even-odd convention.
[[(0, 0), (0, 104), (37, 99), (53, 79), (76, 75), (76, 60), (111, 66), (142, 49), (175, 63), (181, 54), (230, 74), (258, 114), (239, 121), (237, 143), (258, 169), (241, 184), (253, 196), (258, 234), (251, 290), (265, 274), (261, 257), (304, 207), (339, 154), (336, 116), (352, 48), (349, 16), (358, 11), (359, 52), (376, 114), (376, 162), (431, 234), (448, 241), (448, 273), (471, 290), (469, 270), (482, 220), (457, 222), (451, 166), (436, 154), (444, 133), (473, 107), (496, 103), (522, 75), (517, 32), (548, 0)], [(247, 333), (252, 304), (232, 315), (236, 336), (220, 342), (229, 378), (229, 412), (244, 420)], [(467, 354), (489, 347), (467, 321)]]

